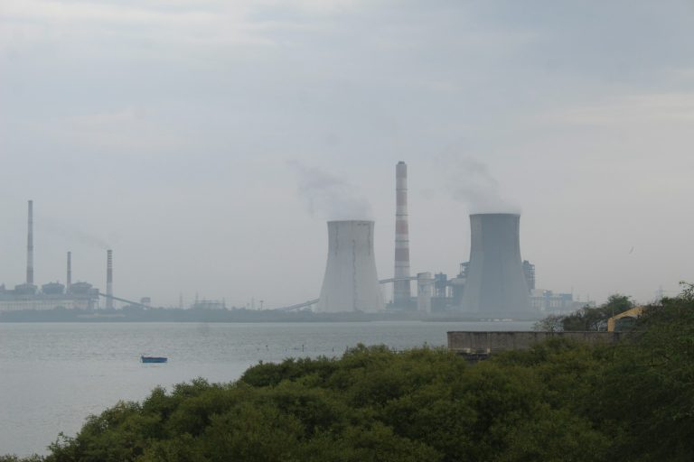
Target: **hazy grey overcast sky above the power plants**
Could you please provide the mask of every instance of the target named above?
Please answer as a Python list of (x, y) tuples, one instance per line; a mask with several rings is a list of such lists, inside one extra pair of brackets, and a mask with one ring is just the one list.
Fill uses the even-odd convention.
[[(520, 209), (538, 286), (694, 281), (694, 4), (0, 0), (0, 282), (155, 304), (317, 296), (325, 219), (393, 272), (455, 274), (468, 213)], [(355, 217), (361, 218), (361, 217)], [(387, 296), (389, 297), (389, 295)], [(257, 301), (257, 305), (258, 305)]]

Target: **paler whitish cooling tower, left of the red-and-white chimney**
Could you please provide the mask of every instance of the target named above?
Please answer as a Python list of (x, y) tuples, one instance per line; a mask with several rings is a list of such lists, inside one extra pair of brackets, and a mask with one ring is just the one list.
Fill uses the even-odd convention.
[(317, 311), (383, 310), (372, 221), (329, 221), (328, 263)]

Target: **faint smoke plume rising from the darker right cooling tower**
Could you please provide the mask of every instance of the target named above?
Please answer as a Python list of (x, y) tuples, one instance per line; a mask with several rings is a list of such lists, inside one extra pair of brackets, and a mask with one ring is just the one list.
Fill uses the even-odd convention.
[(453, 199), (464, 203), (471, 214), (521, 213), (521, 208), (502, 198), (499, 182), (483, 162), (469, 157), (447, 159), (450, 167), (447, 189)]

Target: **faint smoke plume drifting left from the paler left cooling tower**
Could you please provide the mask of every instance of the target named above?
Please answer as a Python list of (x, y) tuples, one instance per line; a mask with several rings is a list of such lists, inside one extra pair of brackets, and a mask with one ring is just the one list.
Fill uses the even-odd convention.
[(325, 220), (372, 219), (369, 201), (347, 180), (299, 161), (288, 161), (298, 179), (298, 194), (312, 217)]

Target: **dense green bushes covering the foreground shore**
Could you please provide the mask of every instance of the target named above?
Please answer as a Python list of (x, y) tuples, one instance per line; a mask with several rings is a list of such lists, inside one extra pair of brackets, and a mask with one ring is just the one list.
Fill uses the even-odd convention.
[(553, 339), (476, 365), (360, 346), (259, 364), (236, 383), (157, 388), (90, 417), (45, 460), (678, 462), (694, 459), (692, 435), (687, 286), (613, 346)]

